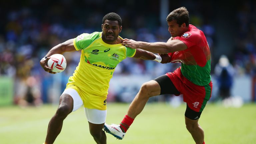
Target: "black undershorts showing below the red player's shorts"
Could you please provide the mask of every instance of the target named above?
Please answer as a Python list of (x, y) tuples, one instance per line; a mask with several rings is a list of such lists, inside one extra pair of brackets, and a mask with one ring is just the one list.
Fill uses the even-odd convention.
[[(160, 95), (162, 94), (173, 94), (173, 95), (180, 95), (180, 92), (176, 89), (174, 84), (172, 83), (171, 79), (167, 75), (159, 76), (155, 79), (161, 88)], [(200, 118), (202, 112), (196, 112), (192, 109), (190, 109), (187, 105), (185, 116), (192, 120), (197, 120)]]

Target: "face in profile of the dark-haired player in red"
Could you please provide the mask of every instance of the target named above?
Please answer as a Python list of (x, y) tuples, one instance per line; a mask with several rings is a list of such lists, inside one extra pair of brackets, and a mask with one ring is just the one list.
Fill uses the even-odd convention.
[[(179, 24), (176, 23), (176, 20), (168, 21), (168, 31), (172, 35), (172, 37), (181, 36), (185, 31), (184, 28), (186, 27), (186, 24), (183, 23), (180, 27)], [(184, 27), (185, 26), (185, 27)]]

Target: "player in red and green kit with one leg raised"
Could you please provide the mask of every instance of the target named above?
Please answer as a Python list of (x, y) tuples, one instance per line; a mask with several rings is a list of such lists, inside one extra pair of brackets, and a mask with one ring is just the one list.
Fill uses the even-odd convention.
[(204, 144), (204, 131), (198, 120), (211, 97), (210, 49), (204, 33), (189, 24), (185, 7), (173, 10), (167, 16), (168, 31), (172, 37), (165, 42), (147, 43), (124, 39), (123, 45), (159, 53), (161, 63), (181, 62), (181, 67), (154, 80), (144, 83), (127, 115), (119, 125), (104, 125), (104, 130), (118, 139), (123, 139), (134, 118), (141, 113), (148, 99), (162, 94), (183, 94), (187, 103), (185, 124), (196, 144)]

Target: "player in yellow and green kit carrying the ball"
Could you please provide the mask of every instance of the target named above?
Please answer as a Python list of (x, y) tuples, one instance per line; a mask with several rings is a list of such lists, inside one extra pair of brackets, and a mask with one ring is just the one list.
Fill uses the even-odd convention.
[(83, 33), (58, 44), (40, 61), (45, 71), (54, 74), (47, 66), (49, 56), (81, 50), (80, 62), (69, 78), (60, 96), (59, 107), (49, 122), (45, 144), (55, 141), (62, 129), (63, 120), (82, 105), (94, 140), (97, 144), (106, 144), (106, 134), (102, 130), (107, 113), (106, 98), (109, 81), (117, 64), (127, 57), (161, 62), (161, 57), (151, 52), (123, 46), (123, 39), (119, 36), (121, 25), (122, 20), (118, 14), (108, 13), (102, 19), (102, 32)]

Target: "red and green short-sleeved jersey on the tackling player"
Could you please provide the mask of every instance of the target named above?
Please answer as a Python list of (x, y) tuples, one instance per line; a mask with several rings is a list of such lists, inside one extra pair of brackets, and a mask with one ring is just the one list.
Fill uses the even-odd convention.
[(181, 73), (196, 85), (208, 85), (211, 81), (211, 53), (204, 33), (193, 25), (179, 39), (187, 45), (186, 50), (169, 53), (170, 62), (181, 62)]

